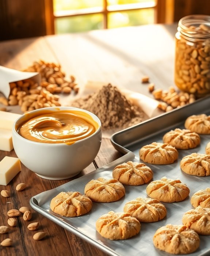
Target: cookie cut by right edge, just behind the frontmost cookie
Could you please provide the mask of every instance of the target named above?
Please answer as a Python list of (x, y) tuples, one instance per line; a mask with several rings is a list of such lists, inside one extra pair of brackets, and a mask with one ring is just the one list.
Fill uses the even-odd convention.
[(196, 207), (184, 213), (182, 223), (199, 235), (210, 235), (210, 208)]

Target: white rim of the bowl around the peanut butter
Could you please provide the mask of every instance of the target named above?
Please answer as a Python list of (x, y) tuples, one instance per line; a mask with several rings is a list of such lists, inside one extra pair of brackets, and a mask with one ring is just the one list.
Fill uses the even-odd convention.
[[(84, 139), (75, 141), (75, 142), (74, 142), (73, 144), (71, 144), (71, 145), (74, 145), (75, 143), (84, 142), (84, 140), (90, 139), (90, 138), (92, 138), (93, 136), (99, 134), (99, 133), (102, 131), (102, 125), (101, 125), (100, 119), (99, 119), (95, 114), (93, 114), (92, 112), (90, 112), (90, 111), (88, 111), (88, 110), (85, 110), (85, 109), (80, 109), (79, 107), (56, 106), (56, 107), (42, 107), (42, 108), (40, 108), (40, 109), (31, 110), (31, 111), (28, 111), (27, 113), (22, 114), (20, 117), (18, 117), (18, 118), (15, 120), (15, 122), (14, 122), (14, 124), (13, 124), (13, 126), (12, 126), (12, 132), (13, 132), (16, 136), (18, 136), (20, 139), (26, 140), (26, 141), (31, 142), (31, 143), (36, 144), (36, 145), (43, 145), (43, 146), (44, 146), (44, 145), (46, 145), (46, 146), (52, 145), (52, 147), (55, 147), (55, 146), (58, 147), (58, 146), (63, 146), (63, 145), (69, 146), (67, 143), (47, 143), (47, 142), (43, 143), (43, 142), (35, 142), (35, 141), (33, 141), (33, 140), (26, 139), (26, 138), (22, 137), (20, 134), (18, 134), (18, 132), (16, 131), (16, 123), (17, 123), (19, 120), (21, 120), (22, 118), (24, 118), (24, 117), (26, 116), (26, 114), (33, 114), (33, 113), (36, 113), (36, 112), (39, 112), (39, 111), (42, 111), (42, 110), (52, 110), (52, 111), (53, 111), (53, 110), (54, 110), (54, 111), (60, 111), (60, 110), (78, 110), (78, 111), (81, 111), (81, 112), (85, 112), (85, 113), (89, 114), (91, 117), (94, 117), (94, 118), (96, 119), (96, 120), (94, 119), (94, 120), (98, 123), (98, 128), (96, 129), (96, 131), (95, 131), (93, 134), (91, 134), (90, 136), (88, 136), (88, 137), (86, 137), (86, 138), (84, 138)], [(12, 136), (13, 136), (13, 135), (12, 135)]]

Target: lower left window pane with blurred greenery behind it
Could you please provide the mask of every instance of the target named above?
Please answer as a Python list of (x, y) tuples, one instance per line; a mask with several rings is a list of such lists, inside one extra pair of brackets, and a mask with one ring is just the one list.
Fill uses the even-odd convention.
[(55, 33), (83, 32), (103, 28), (103, 15), (91, 14), (84, 16), (55, 19)]

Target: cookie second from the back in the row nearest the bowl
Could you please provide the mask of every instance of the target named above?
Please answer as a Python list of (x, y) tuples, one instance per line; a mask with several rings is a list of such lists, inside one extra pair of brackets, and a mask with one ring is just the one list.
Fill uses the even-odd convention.
[(193, 149), (200, 144), (201, 139), (196, 132), (176, 128), (163, 136), (163, 142), (168, 143), (176, 149)]

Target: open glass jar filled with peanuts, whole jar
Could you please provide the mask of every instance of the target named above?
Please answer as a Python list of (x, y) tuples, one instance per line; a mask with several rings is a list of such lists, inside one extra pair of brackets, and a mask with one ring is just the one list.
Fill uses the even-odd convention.
[(180, 19), (175, 36), (175, 84), (198, 97), (210, 93), (210, 16)]

